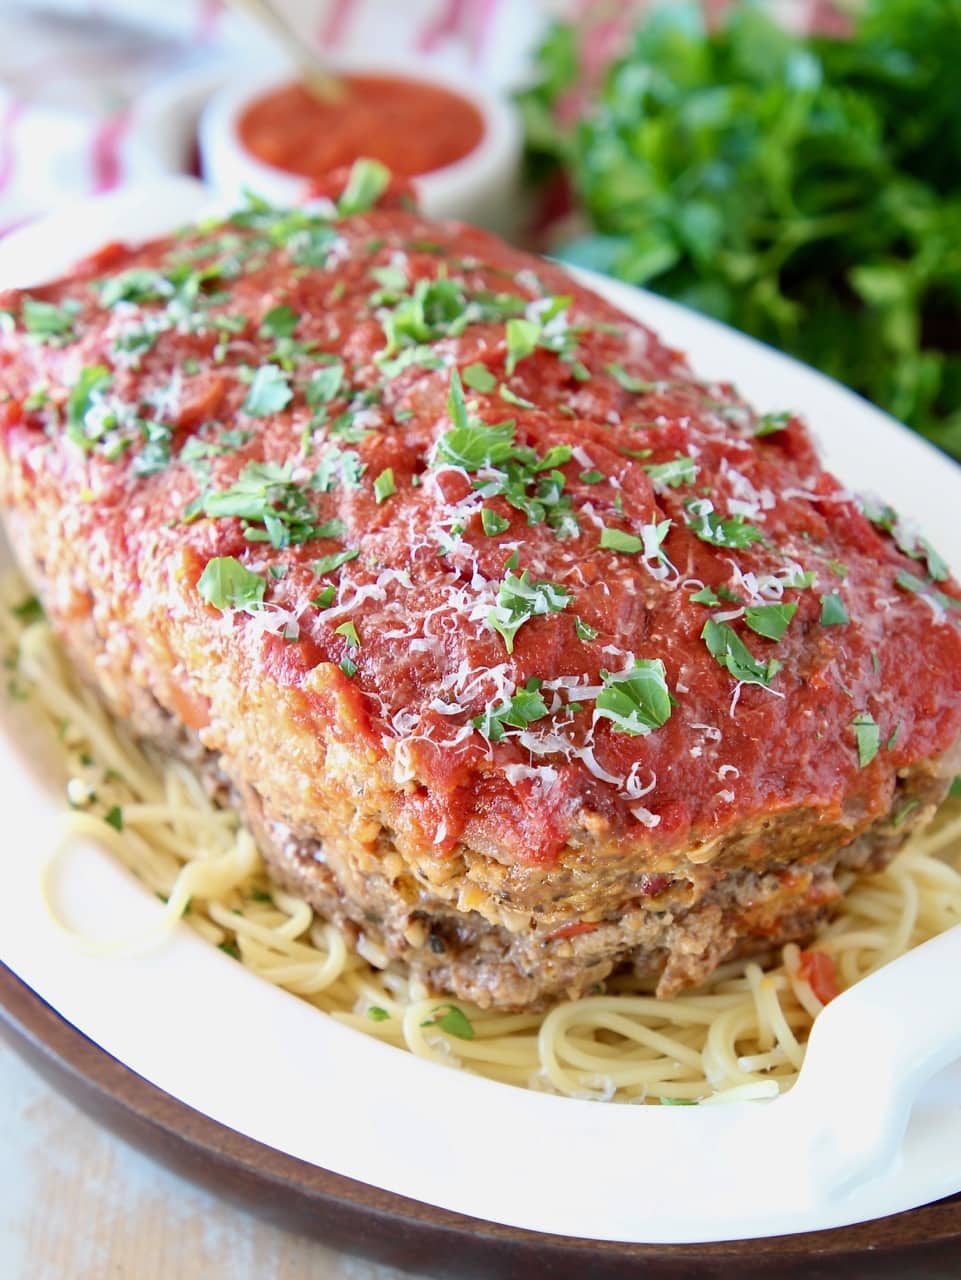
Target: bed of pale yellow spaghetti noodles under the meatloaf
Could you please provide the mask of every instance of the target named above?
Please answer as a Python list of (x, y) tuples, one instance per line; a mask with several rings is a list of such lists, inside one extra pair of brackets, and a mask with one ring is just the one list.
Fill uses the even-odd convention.
[[(674, 1000), (655, 1000), (619, 975), (546, 1014), (440, 1002), (399, 966), (375, 968), (306, 902), (270, 884), (239, 818), (186, 765), (145, 751), (106, 716), (24, 596), (23, 580), (10, 575), (0, 591), (0, 643), (12, 692), (32, 699), (56, 731), (68, 836), (92, 837), (164, 899), (159, 934), (184, 920), (260, 978), (356, 1030), (509, 1084), (690, 1103), (772, 1097), (797, 1078), (823, 1005), (804, 963), (810, 954), (796, 946), (768, 969), (727, 964)], [(851, 879), (816, 940), (842, 988), (961, 920), (961, 805), (948, 801), (886, 872)], [(134, 945), (77, 941), (105, 954)]]

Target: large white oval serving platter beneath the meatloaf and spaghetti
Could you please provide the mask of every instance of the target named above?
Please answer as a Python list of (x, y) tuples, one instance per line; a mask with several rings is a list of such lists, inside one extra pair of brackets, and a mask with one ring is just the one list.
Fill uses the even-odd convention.
[[(0, 284), (41, 280), (105, 239), (157, 234), (206, 207), (209, 192), (188, 179), (87, 201), (5, 241)], [(703, 375), (736, 381), (761, 410), (805, 413), (842, 477), (924, 517), (935, 544), (961, 563), (961, 470), (795, 361), (673, 303), (600, 278), (591, 283), (687, 349)], [(961, 1188), (961, 1064), (924, 1087), (900, 1162), (851, 1190), (832, 1190), (811, 1176), (816, 1152), (813, 1162), (798, 1165), (798, 1123), (816, 1103), (837, 1117), (827, 1139), (852, 1144), (842, 1157), (857, 1155), (894, 1097), (896, 1082), (883, 1070), (864, 1076), (838, 1061), (834, 1075), (822, 1059), (815, 1078), (807, 1083), (802, 1074), (786, 1098), (703, 1108), (601, 1106), (494, 1084), (329, 1021), (187, 927), (147, 955), (78, 954), (51, 922), (40, 891), (61, 833), (49, 751), (29, 707), (6, 701), (0, 703), (0, 812), (6, 832), (0, 959), (147, 1080), (302, 1160), (493, 1221), (647, 1243), (841, 1226)], [(147, 924), (159, 910), (137, 882), (87, 846), (64, 861), (58, 906), (74, 925), (104, 937), (116, 936), (120, 913), (125, 933), (132, 919)], [(946, 936), (935, 946), (944, 956), (955, 945)], [(906, 968), (892, 966), (889, 973), (900, 974), (893, 986), (912, 989), (919, 969), (911, 965), (920, 964), (932, 983), (925, 989), (930, 1009), (953, 1009), (956, 963), (932, 966), (920, 956), (902, 961)], [(871, 1025), (891, 1044), (909, 1038), (910, 1007), (903, 1000), (886, 1005), (891, 983), (875, 989), (877, 1001), (851, 1001), (860, 1021), (846, 1028), (841, 1015), (850, 997), (830, 1009), (848, 1046)], [(921, 1021), (930, 1037), (935, 1020)], [(828, 1164), (839, 1185), (843, 1169)]]

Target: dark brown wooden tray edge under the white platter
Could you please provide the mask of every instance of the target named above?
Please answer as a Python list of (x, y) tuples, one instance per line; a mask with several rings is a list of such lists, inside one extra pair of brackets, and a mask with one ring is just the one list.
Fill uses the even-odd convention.
[[(377, 1190), (244, 1138), (123, 1066), (3, 965), (0, 1027), (56, 1089), (152, 1158), (280, 1226), (417, 1274), (943, 1280), (961, 1272), (961, 1196), (841, 1230), (763, 1240), (665, 1245), (543, 1235)], [(470, 1146), (465, 1149), (470, 1158)]]

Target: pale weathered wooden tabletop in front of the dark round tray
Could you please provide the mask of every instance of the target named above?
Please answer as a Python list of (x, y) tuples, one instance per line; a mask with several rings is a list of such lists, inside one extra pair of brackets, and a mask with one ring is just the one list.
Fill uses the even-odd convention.
[(0, 1041), (3, 1280), (404, 1280), (244, 1213), (78, 1111)]

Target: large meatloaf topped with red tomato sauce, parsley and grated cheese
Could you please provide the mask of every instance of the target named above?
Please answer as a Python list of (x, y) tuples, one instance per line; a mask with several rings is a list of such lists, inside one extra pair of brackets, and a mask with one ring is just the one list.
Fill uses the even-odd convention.
[(958, 768), (920, 532), (374, 166), (0, 307), (0, 499), (77, 671), (375, 964), (671, 996), (809, 937)]

